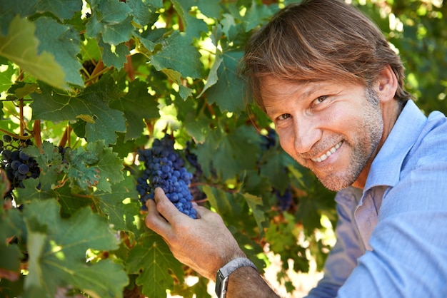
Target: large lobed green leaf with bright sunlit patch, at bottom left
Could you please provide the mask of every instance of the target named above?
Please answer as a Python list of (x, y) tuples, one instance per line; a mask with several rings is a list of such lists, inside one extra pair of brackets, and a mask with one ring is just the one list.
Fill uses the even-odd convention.
[(70, 284), (93, 297), (121, 297), (129, 282), (121, 265), (111, 260), (96, 264), (85, 260), (87, 249), (118, 248), (118, 240), (104, 218), (86, 207), (63, 220), (55, 200), (31, 202), (24, 210), (24, 218), (30, 250), (27, 290), (54, 297), (56, 287)]

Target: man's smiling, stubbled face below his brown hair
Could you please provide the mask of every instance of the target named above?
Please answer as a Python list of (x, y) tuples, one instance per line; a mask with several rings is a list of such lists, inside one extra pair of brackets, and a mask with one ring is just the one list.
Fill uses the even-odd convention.
[[(366, 179), (383, 133), (374, 94), (360, 85), (264, 78), (261, 92), (281, 147), (330, 190)], [(376, 104), (371, 103), (376, 102)]]

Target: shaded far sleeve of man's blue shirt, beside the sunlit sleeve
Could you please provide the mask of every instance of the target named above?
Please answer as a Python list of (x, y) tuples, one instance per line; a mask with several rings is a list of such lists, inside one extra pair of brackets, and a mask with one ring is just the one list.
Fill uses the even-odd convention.
[(326, 259), (323, 278), (315, 288), (311, 289), (307, 298), (336, 297), (338, 289), (357, 266), (358, 257), (363, 255), (363, 242), (353, 217), (353, 211), (360, 197), (361, 190), (354, 187), (337, 192), (336, 245)]

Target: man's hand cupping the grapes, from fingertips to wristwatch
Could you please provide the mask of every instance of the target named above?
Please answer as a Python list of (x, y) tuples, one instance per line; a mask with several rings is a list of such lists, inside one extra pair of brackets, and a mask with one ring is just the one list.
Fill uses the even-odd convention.
[(220, 215), (194, 206), (194, 220), (176, 209), (161, 188), (147, 200), (146, 225), (161, 235), (177, 260), (215, 281), (216, 272), (236, 257), (246, 257)]

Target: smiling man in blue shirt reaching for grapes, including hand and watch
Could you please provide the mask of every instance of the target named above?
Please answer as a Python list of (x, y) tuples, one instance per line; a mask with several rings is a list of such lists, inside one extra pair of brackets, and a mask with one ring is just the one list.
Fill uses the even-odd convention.
[[(447, 120), (419, 111), (376, 26), (341, 1), (304, 1), (242, 62), (281, 147), (338, 191), (337, 243), (309, 297), (447, 297)], [(227, 297), (277, 297), (219, 215), (196, 207), (191, 220), (162, 190), (148, 209), (181, 262), (212, 280), (221, 269)]]

